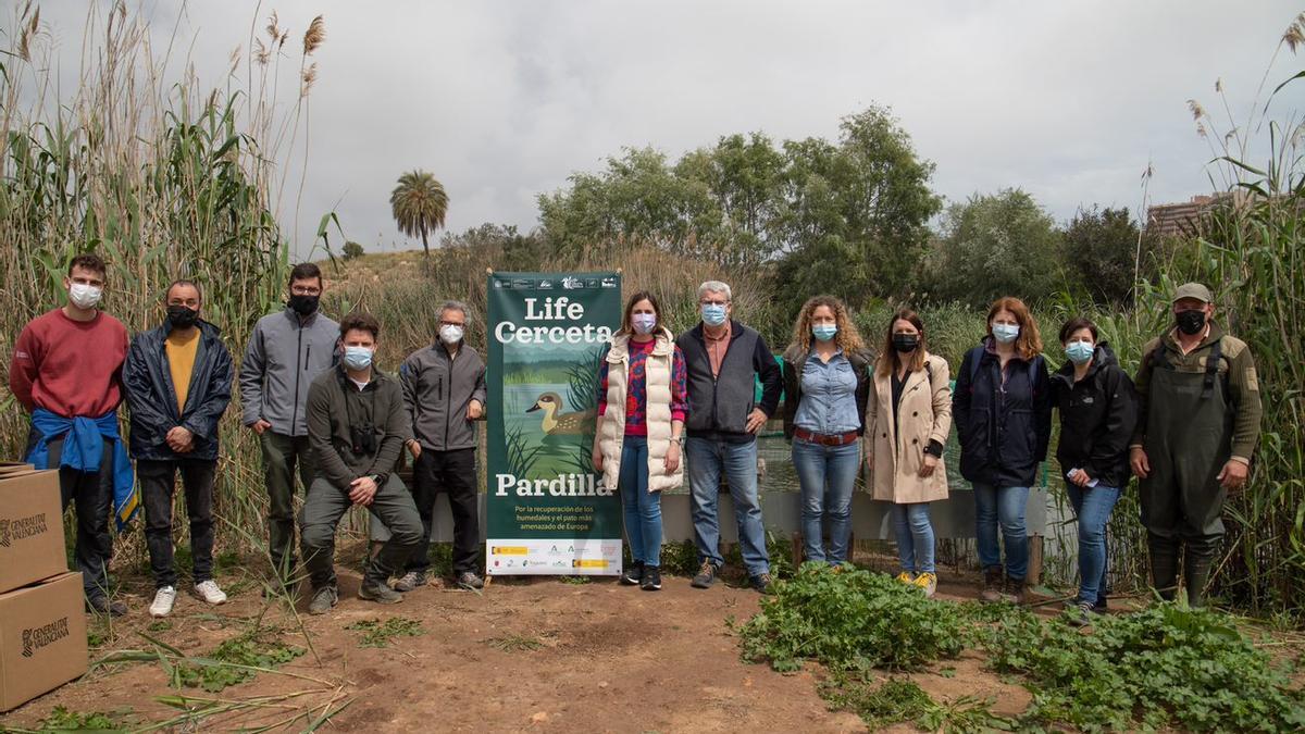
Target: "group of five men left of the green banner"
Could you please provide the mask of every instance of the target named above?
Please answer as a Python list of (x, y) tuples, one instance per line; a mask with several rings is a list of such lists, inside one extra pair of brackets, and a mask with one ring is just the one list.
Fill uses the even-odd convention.
[[(9, 388), (31, 414), (27, 461), (57, 469), (64, 507), (76, 507), (76, 558), (87, 609), (128, 611), (110, 594), (108, 517), (115, 496), (130, 495), (134, 481), (155, 582), (149, 611), (172, 611), (179, 473), (193, 593), (206, 603), (223, 603), (227, 597), (213, 579), (213, 488), (218, 422), (231, 401), (231, 354), (218, 328), (202, 317), (197, 282), (170, 283), (164, 321), (129, 340), (121, 321), (99, 310), (107, 281), (100, 257), (74, 257), (64, 278), (68, 302), (29, 323), (14, 345)], [(373, 366), (376, 319), (355, 312), (335, 323), (320, 312), (322, 290), (316, 265), (296, 265), (286, 307), (257, 323), (239, 372), (243, 423), (262, 448), (277, 582), (290, 588), (299, 581), (298, 477), (305, 492), (298, 529), (303, 573), (312, 585), (311, 613), (325, 613), (338, 599), (335, 528), (354, 505), (365, 507), (390, 532), (367, 562), (359, 597), (393, 603), (425, 584), (431, 516), (441, 491), (453, 508), (457, 584), (483, 586), (471, 422), (484, 411), (484, 363), (463, 343), (467, 307), (446, 302), (435, 343), (392, 376)], [(129, 409), (128, 441), (117, 432), (123, 401)], [(415, 460), (411, 491), (395, 474), (405, 449)]]

